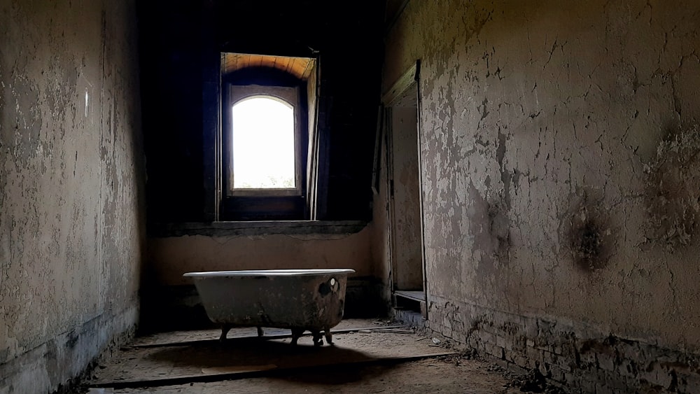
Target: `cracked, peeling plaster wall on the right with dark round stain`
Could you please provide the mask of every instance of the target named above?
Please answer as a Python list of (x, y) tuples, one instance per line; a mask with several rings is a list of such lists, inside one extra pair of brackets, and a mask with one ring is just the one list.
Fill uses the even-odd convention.
[[(576, 385), (563, 372), (606, 365), (582, 364), (584, 339), (700, 352), (699, 17), (682, 0), (409, 3), (383, 83), (421, 59), (430, 328)], [(561, 363), (528, 353), (556, 341), (575, 349)], [(652, 353), (610, 374), (693, 379), (636, 374)]]

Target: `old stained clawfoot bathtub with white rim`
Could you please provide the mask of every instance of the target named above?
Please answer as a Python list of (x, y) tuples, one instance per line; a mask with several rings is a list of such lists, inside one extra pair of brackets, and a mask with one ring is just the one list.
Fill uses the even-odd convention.
[(343, 317), (347, 276), (354, 269), (265, 269), (188, 272), (207, 316), (222, 325), (221, 339), (232, 327), (289, 328), (292, 343), (309, 330), (316, 346), (332, 343), (330, 329)]

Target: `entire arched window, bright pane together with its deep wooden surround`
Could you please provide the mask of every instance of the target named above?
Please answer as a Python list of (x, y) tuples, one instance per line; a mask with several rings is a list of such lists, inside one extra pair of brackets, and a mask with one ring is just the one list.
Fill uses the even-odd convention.
[(316, 218), (317, 80), (314, 59), (222, 53), (218, 220)]

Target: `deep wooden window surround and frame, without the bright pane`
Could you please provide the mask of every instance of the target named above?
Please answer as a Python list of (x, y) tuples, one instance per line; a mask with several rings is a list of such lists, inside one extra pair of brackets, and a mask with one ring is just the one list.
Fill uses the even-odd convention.
[[(325, 210), (326, 139), (319, 119), (318, 59), (221, 52), (216, 151), (218, 212), (214, 220), (318, 220)], [(236, 187), (233, 145), (235, 103), (251, 96), (282, 99), (294, 111), (294, 188)], [(240, 146), (240, 145), (239, 145)], [(238, 157), (241, 157), (240, 154)], [(240, 166), (239, 168), (243, 168)]]

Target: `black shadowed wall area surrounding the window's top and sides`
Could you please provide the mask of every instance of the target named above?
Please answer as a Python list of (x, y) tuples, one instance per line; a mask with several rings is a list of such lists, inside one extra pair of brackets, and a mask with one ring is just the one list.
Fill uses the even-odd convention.
[[(326, 220), (371, 218), (383, 1), (138, 2), (148, 223), (207, 220), (203, 94), (221, 52), (321, 57)], [(212, 80), (211, 73), (215, 77)], [(253, 78), (253, 76), (251, 76)], [(263, 81), (257, 80), (256, 83)]]

